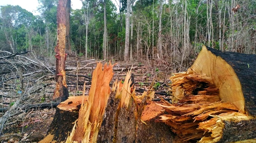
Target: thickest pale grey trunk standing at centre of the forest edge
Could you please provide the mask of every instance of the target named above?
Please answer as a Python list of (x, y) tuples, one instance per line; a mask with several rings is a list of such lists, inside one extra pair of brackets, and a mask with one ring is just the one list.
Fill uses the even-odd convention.
[(129, 61), (129, 37), (130, 37), (130, 11), (131, 0), (127, 0), (127, 11), (125, 17), (125, 46), (124, 46), (124, 61)]

